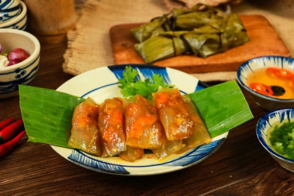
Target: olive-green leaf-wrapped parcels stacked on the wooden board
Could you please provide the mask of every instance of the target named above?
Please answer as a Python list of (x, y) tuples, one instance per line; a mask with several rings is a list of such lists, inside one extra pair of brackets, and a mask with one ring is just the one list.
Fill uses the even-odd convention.
[(174, 8), (171, 13), (131, 29), (131, 33), (139, 41), (134, 49), (146, 63), (178, 55), (205, 58), (249, 41), (237, 14), (201, 3), (188, 10)]

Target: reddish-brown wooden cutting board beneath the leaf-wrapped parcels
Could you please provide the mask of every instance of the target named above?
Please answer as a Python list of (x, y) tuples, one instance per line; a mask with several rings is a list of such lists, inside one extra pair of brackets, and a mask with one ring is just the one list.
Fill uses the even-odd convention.
[[(167, 66), (186, 73), (237, 71), (240, 64), (253, 57), (264, 55), (290, 56), (290, 52), (272, 25), (261, 15), (240, 15), (250, 41), (226, 52), (205, 59), (195, 55), (180, 55), (152, 64)], [(111, 27), (109, 33), (115, 64), (146, 64), (134, 50), (136, 39), (130, 29), (142, 24), (123, 24)]]

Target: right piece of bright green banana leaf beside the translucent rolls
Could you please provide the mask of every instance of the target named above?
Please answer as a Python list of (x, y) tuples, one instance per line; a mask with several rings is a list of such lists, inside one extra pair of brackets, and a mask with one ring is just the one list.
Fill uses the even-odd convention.
[(234, 81), (189, 94), (211, 137), (223, 134), (253, 118), (246, 99)]

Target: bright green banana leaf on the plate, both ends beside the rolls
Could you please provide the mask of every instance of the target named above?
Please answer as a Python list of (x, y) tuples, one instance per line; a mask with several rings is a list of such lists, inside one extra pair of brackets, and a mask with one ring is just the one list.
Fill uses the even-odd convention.
[[(31, 142), (71, 148), (71, 119), (85, 99), (40, 87), (20, 85), (20, 110)], [(228, 132), (253, 118), (236, 81), (189, 94), (211, 137)]]

